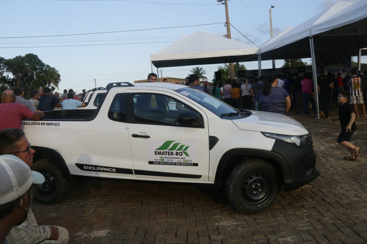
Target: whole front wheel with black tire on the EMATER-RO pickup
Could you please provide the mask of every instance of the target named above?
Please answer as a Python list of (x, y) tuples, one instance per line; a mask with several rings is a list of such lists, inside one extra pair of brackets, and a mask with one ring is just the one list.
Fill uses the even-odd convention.
[(281, 184), (276, 169), (261, 159), (237, 165), (227, 180), (227, 195), (235, 208), (245, 214), (263, 212), (277, 201)]

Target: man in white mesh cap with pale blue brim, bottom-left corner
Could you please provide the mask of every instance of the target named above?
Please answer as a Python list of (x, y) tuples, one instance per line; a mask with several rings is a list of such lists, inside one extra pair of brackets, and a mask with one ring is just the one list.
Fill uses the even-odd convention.
[(7, 244), (13, 226), (21, 225), (28, 216), (32, 184), (42, 184), (45, 179), (14, 155), (0, 156), (0, 175), (0, 243)]

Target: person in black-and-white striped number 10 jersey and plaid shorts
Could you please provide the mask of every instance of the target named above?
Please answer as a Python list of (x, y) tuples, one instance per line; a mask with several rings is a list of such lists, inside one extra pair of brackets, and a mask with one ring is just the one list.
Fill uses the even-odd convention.
[(350, 88), (350, 104), (353, 106), (353, 110), (356, 113), (356, 117), (359, 117), (357, 104), (361, 104), (363, 117), (366, 117), (366, 107), (363, 103), (363, 94), (361, 89), (361, 78), (357, 76), (357, 69), (350, 70), (352, 77), (349, 78), (348, 86)]

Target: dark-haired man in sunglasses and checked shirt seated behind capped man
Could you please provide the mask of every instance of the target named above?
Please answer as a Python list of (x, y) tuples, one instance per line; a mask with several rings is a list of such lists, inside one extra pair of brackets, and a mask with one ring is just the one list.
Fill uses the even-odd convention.
[[(32, 149), (25, 133), (17, 128), (0, 130), (0, 155), (11, 154), (23, 160), (29, 167), (32, 166)], [(39, 226), (32, 210), (29, 210), (26, 221), (12, 228), (7, 236), (9, 243), (68, 243), (69, 233), (59, 226)], [(53, 241), (51, 241), (53, 240)]]

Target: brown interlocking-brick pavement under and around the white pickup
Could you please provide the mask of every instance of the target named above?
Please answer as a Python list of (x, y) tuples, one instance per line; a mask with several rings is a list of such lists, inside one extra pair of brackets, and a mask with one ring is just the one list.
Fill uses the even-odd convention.
[(34, 203), (37, 221), (67, 228), (73, 244), (366, 243), (367, 118), (356, 119), (351, 142), (362, 149), (350, 162), (336, 142), (338, 122), (289, 116), (312, 133), (321, 176), (282, 191), (269, 211), (237, 212), (224, 192), (207, 185), (90, 180), (72, 182), (58, 204)]

